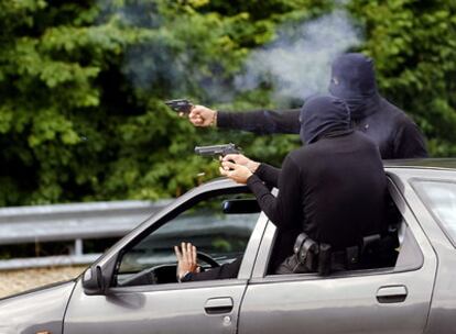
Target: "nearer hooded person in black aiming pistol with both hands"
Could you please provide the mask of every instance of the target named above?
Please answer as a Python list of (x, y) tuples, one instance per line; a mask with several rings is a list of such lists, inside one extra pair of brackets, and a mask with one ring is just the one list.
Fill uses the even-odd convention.
[[(249, 186), (278, 226), (273, 268), (292, 254), (301, 232), (343, 252), (384, 230), (387, 177), (381, 157), (370, 138), (352, 130), (345, 101), (311, 98), (300, 122), (305, 145), (285, 157), (282, 169), (260, 164), (252, 174), (232, 163), (239, 155), (227, 155), (220, 167), (221, 175)], [(279, 188), (278, 197), (268, 187)]]

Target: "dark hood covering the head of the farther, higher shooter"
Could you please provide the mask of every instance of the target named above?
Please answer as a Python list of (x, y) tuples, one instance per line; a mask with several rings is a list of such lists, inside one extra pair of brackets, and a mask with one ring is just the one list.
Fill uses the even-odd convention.
[(347, 102), (351, 119), (363, 119), (378, 110), (373, 60), (362, 54), (344, 54), (332, 65), (329, 92)]

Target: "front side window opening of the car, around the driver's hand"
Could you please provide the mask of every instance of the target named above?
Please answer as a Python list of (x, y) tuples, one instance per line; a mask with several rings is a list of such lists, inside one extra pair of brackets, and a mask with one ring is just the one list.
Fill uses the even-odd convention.
[[(218, 265), (234, 261), (243, 254), (260, 214), (258, 209), (246, 204), (254, 207), (256, 201), (246, 198), (252, 196), (220, 194), (203, 199), (137, 241), (118, 264), (118, 286), (176, 282), (173, 247), (182, 242), (194, 244)], [(210, 269), (207, 261), (198, 259), (198, 264), (203, 270)]]

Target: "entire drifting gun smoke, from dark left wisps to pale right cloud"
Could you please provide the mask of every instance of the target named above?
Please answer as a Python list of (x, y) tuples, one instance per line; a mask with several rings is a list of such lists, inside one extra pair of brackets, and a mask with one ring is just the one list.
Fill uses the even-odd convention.
[[(344, 8), (345, 0), (337, 2), (341, 2), (338, 8)], [(100, 20), (117, 15), (128, 25), (161, 29), (163, 20), (153, 1), (146, 7), (130, 3), (121, 9), (109, 3), (99, 0)], [(285, 24), (276, 35), (273, 42), (250, 54), (234, 80), (224, 78), (221, 65), (211, 64), (208, 76), (207, 68), (202, 70), (204, 64), (195, 58), (197, 54), (173, 49), (160, 33), (127, 51), (122, 71), (135, 88), (159, 88), (161, 93), (172, 92), (173, 97), (192, 97), (203, 90), (208, 102), (229, 102), (237, 93), (265, 86), (272, 88), (274, 101), (286, 102), (327, 91), (332, 60), (361, 42), (344, 9), (303, 24)]]

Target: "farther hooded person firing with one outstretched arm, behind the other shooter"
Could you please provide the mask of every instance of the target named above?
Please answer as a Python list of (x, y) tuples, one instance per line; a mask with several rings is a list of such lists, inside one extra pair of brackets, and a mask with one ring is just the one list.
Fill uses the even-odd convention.
[[(371, 58), (358, 53), (337, 57), (332, 65), (329, 92), (346, 101), (352, 126), (378, 145), (383, 159), (427, 157), (425, 140), (416, 124), (379, 94)], [(195, 126), (216, 124), (220, 129), (272, 134), (298, 133), (298, 115), (300, 110), (217, 112), (196, 105), (189, 120)]]

